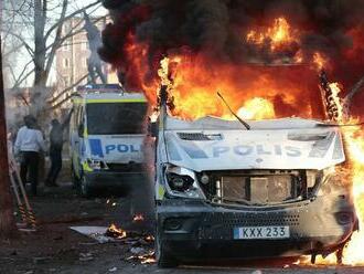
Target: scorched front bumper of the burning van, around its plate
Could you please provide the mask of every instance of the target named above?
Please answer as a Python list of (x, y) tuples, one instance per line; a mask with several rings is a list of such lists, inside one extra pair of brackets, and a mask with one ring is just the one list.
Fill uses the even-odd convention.
[[(350, 220), (338, 220), (339, 212), (351, 214)], [(350, 201), (328, 197), (266, 209), (165, 199), (158, 204), (157, 214), (160, 243), (183, 261), (326, 254), (342, 246), (357, 229)], [(288, 225), (290, 236), (234, 240), (234, 228), (274, 225)]]

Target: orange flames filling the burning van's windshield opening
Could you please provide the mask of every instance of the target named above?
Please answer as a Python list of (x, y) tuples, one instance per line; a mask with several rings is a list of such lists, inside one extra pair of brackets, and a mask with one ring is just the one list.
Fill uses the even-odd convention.
[[(171, 64), (173, 64), (172, 81)], [(287, 74), (287, 78), (277, 81), (270, 70), (280, 70), (281, 74)], [(234, 112), (238, 112), (245, 118), (260, 119), (287, 116), (276, 113), (272, 103), (275, 99), (279, 98), (280, 105), (292, 109), (295, 105), (300, 105), (299, 97), (304, 94), (301, 91), (307, 87), (297, 86), (298, 80), (295, 78), (297, 74), (292, 74), (293, 77), (290, 78), (289, 73), (295, 70), (299, 67), (249, 67), (229, 64), (213, 66), (206, 63), (204, 56), (172, 56), (161, 61), (158, 74), (173, 96), (175, 116), (184, 119), (195, 119), (206, 115), (231, 118), (228, 109), (216, 96), (218, 91)], [(157, 89), (158, 86), (148, 91), (157, 94)], [(301, 116), (311, 116), (309, 105), (300, 105), (300, 109)]]

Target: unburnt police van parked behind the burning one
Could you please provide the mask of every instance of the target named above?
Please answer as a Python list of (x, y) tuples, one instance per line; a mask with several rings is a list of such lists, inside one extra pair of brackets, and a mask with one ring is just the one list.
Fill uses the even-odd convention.
[(74, 185), (84, 197), (109, 187), (130, 187), (143, 171), (148, 103), (119, 85), (77, 87), (71, 120)]

